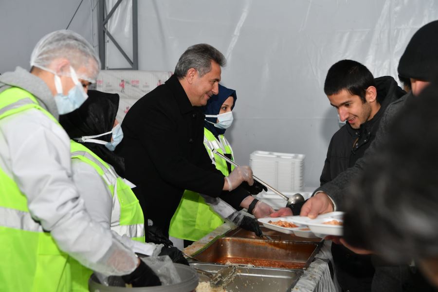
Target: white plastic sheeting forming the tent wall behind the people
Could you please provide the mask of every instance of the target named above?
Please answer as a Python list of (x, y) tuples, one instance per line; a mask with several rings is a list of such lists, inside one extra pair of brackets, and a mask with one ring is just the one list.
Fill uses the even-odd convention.
[[(323, 92), (329, 67), (350, 58), (376, 77), (397, 79), (410, 37), (438, 19), (436, 0), (138, 4), (139, 69), (173, 71), (188, 46), (205, 42), (218, 48), (228, 60), (221, 83), (237, 90), (235, 121), (226, 132), (236, 162), (248, 164), (255, 150), (304, 153), (307, 186), (319, 185), (329, 140), (338, 129), (336, 111)], [(113, 35), (131, 36), (129, 13), (111, 20), (118, 24), (110, 22)], [(107, 53), (114, 65), (123, 62), (120, 54)]]

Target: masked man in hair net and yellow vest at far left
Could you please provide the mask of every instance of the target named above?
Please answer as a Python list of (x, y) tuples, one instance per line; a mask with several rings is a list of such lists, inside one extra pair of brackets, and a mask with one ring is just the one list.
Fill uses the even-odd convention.
[(99, 59), (83, 37), (63, 30), (37, 43), (31, 67), (0, 76), (0, 290), (70, 291), (73, 258), (136, 284), (150, 268), (91, 219), (57, 122), (87, 98)]

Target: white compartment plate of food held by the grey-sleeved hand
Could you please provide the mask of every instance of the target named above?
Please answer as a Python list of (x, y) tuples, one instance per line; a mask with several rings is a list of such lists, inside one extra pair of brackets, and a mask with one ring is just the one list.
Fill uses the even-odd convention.
[(328, 235), (342, 236), (344, 228), (342, 225), (323, 224), (331, 220), (343, 222), (344, 212), (330, 212), (319, 215), (315, 219), (301, 216), (290, 216), (288, 220), (295, 224), (307, 225), (317, 237), (326, 237)]

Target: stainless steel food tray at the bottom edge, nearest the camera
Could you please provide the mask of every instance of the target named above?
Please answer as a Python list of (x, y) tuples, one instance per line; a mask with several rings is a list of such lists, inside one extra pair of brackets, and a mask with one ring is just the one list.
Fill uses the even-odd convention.
[[(212, 274), (222, 269), (223, 265), (190, 263), (190, 266)], [(291, 291), (303, 274), (303, 270), (282, 270), (267, 268), (237, 267), (236, 277), (223, 287), (227, 292), (285, 292)], [(200, 282), (208, 278), (199, 274)]]

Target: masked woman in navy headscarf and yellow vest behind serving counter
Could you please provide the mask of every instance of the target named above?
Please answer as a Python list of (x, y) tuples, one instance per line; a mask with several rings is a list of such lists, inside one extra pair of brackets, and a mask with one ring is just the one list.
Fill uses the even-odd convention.
[[(235, 90), (219, 84), (219, 93), (211, 96), (207, 105), (203, 107), (205, 114), (204, 146), (212, 163), (225, 176), (234, 169), (234, 166), (215, 155), (213, 150), (233, 159), (233, 149), (223, 134), (233, 122), (232, 110), (236, 99)], [(242, 186), (253, 195), (266, 188), (257, 182), (252, 186), (244, 182)], [(262, 202), (257, 202), (250, 213), (254, 214), (256, 209), (262, 205), (270, 208)], [(237, 226), (254, 231), (258, 236), (261, 235), (257, 222), (251, 217), (244, 216), (220, 198), (212, 198), (189, 190), (184, 192), (178, 209), (171, 220), (169, 235), (184, 239), (184, 244), (187, 245), (190, 241), (196, 241), (216, 229), (224, 222), (224, 219), (229, 219)]]

